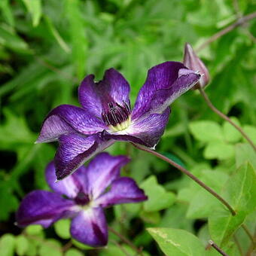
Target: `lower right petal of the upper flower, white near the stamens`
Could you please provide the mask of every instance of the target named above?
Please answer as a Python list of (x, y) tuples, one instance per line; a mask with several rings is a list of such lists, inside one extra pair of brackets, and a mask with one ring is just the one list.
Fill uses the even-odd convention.
[(163, 135), (169, 120), (170, 108), (166, 108), (163, 114), (151, 114), (145, 119), (134, 120), (130, 127), (125, 131), (126, 134), (105, 133), (106, 139), (128, 141), (154, 148)]

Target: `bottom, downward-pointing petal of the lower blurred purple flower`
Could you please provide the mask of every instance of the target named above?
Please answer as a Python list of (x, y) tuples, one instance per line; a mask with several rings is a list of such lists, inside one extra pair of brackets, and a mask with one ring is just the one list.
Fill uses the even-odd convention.
[(81, 211), (72, 220), (71, 235), (79, 242), (93, 247), (104, 246), (108, 242), (108, 227), (101, 207)]

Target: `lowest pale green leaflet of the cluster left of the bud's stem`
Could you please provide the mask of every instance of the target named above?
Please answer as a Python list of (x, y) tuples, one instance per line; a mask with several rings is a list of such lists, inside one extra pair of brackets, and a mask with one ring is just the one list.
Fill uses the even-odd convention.
[(209, 142), (203, 151), (204, 157), (206, 159), (218, 159), (227, 160), (233, 157), (235, 150), (233, 145), (228, 145), (225, 142)]

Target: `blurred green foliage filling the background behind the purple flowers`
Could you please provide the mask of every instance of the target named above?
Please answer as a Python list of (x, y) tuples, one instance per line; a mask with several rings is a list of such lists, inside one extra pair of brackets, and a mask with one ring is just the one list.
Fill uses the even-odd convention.
[[(254, 0), (1, 0), (0, 254), (135, 254), (112, 234), (107, 248), (88, 250), (70, 240), (69, 221), (59, 221), (48, 230), (36, 226), (21, 230), (14, 225), (14, 212), (25, 194), (48, 189), (44, 168), (53, 159), (56, 145), (34, 145), (42, 120), (56, 105), (78, 105), (78, 85), (85, 75), (93, 73), (100, 80), (105, 69), (118, 69), (131, 84), (134, 103), (148, 69), (166, 60), (181, 61), (184, 43), (190, 42), (212, 76), (206, 89), (209, 98), (256, 143), (255, 20), (202, 47), (216, 32), (255, 9)], [(162, 255), (160, 248), (170, 253), (152, 242), (153, 236), (161, 244), (148, 227), (186, 230), (204, 246), (210, 233), (230, 255), (250, 250), (250, 240), (239, 225), (244, 222), (254, 232), (251, 201), (241, 205), (234, 201), (244, 214), (232, 228), (226, 227), (227, 222), (212, 215), (221, 207), (215, 198), (178, 170), (124, 143), (108, 151), (132, 157), (123, 174), (135, 178), (150, 198), (108, 210), (109, 224), (142, 246), (144, 255)], [(186, 166), (219, 193), (224, 191), (227, 198), (233, 198), (232, 186), (246, 198), (246, 193), (253, 193), (241, 189), (244, 184), (239, 183), (236, 168), (245, 161), (255, 167), (254, 151), (197, 91), (172, 105), (157, 151)], [(248, 178), (245, 184), (254, 181), (251, 166), (240, 168)], [(226, 182), (232, 184), (230, 190)], [(219, 230), (224, 230), (223, 236)], [(190, 241), (186, 234), (182, 236)]]

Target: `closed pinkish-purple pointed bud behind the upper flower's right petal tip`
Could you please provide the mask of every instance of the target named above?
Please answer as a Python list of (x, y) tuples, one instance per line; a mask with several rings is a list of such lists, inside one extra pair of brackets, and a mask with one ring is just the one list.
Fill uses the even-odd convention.
[(200, 81), (192, 87), (193, 90), (199, 89), (200, 87), (206, 87), (209, 84), (210, 75), (209, 71), (204, 65), (203, 61), (197, 56), (190, 44), (186, 43), (184, 47), (184, 58), (183, 64), (188, 69), (200, 72), (202, 75)]

